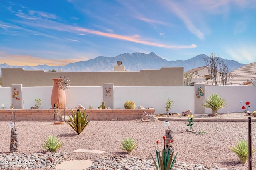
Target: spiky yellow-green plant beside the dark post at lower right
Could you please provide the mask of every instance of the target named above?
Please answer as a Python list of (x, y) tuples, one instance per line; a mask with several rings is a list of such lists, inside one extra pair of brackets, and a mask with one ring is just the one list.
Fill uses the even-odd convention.
[[(248, 158), (248, 148), (248, 141), (240, 140), (236, 143), (235, 146), (230, 147), (230, 150), (232, 150), (239, 157), (240, 162), (244, 164)], [(252, 148), (252, 153), (254, 152), (256, 152), (256, 150)]]

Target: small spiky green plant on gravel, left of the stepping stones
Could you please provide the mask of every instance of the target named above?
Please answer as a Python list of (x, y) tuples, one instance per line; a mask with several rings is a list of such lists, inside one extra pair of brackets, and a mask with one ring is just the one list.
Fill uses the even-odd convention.
[(56, 135), (48, 136), (47, 139), (44, 141), (44, 145), (42, 146), (44, 149), (49, 150), (50, 152), (55, 152), (57, 149), (62, 147), (62, 141)]

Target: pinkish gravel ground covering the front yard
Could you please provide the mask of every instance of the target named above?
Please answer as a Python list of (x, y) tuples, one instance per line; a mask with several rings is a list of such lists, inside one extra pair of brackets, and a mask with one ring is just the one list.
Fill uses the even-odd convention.
[[(244, 114), (244, 113), (243, 113)], [(230, 116), (230, 115), (229, 115)], [(9, 122), (0, 122), (0, 154), (10, 150)], [(86, 129), (76, 135), (67, 124), (54, 125), (53, 122), (18, 121), (19, 152), (45, 153), (43, 141), (48, 135), (59, 135), (63, 147), (58, 152), (68, 152), (73, 160), (94, 160), (104, 155), (126, 154), (120, 149), (120, 143), (125, 137), (133, 137), (138, 141), (138, 147), (132, 151), (132, 156), (150, 158), (154, 149), (163, 148), (163, 121), (140, 122), (132, 121), (91, 121)], [(240, 164), (236, 154), (230, 147), (240, 139), (248, 139), (248, 122), (194, 122), (193, 129), (204, 130), (208, 134), (196, 135), (186, 131), (186, 122), (171, 121), (174, 129), (174, 152), (178, 151), (177, 161), (187, 164), (202, 164), (204, 166), (219, 166), (235, 170), (248, 169), (248, 162)], [(256, 148), (256, 122), (252, 122), (252, 146)], [(72, 152), (76, 149), (104, 150), (103, 154)], [(252, 154), (252, 167), (256, 167), (256, 154)]]

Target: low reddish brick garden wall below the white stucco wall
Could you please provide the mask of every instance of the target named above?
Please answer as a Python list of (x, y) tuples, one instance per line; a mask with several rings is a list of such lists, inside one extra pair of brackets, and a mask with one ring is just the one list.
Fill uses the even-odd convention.
[[(76, 113), (76, 109), (73, 109)], [(16, 121), (54, 121), (53, 109), (0, 109), (0, 121), (10, 121), (12, 112)], [(88, 120), (132, 120), (140, 119), (144, 109), (86, 109)], [(154, 113), (155, 109), (145, 109), (147, 113)], [(83, 113), (84, 110), (81, 110)], [(65, 115), (71, 115), (72, 109), (65, 109)], [(64, 115), (64, 109), (62, 109)], [(55, 121), (57, 115), (55, 115)], [(14, 114), (13, 114), (14, 121)]]

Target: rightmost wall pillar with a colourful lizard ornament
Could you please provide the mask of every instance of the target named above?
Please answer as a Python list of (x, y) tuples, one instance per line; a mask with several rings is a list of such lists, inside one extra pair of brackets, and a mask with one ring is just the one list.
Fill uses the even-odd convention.
[(195, 113), (194, 114), (205, 114), (205, 107), (202, 107), (203, 101), (205, 99), (205, 84), (195, 83)]

